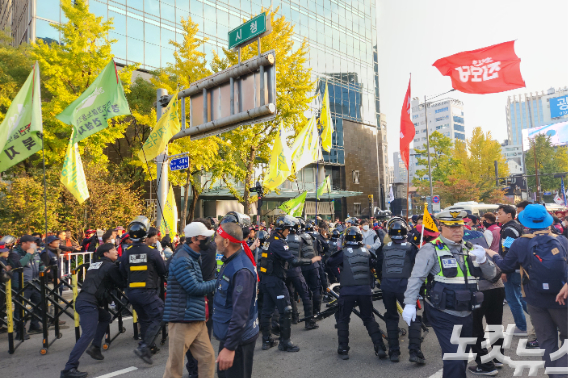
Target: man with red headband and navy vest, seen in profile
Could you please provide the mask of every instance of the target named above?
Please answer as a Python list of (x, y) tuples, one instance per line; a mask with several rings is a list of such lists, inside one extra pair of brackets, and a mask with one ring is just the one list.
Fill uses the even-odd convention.
[(215, 235), (223, 266), (213, 298), (213, 335), (219, 340), (219, 378), (250, 378), (258, 338), (258, 275), (254, 255), (235, 223), (219, 226)]

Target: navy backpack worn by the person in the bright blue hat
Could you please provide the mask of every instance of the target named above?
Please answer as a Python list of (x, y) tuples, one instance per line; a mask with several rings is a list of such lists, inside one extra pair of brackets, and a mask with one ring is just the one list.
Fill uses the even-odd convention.
[(528, 250), (531, 252), (528, 266), (521, 266), (531, 290), (540, 294), (558, 294), (566, 281), (566, 251), (557, 236), (529, 234)]

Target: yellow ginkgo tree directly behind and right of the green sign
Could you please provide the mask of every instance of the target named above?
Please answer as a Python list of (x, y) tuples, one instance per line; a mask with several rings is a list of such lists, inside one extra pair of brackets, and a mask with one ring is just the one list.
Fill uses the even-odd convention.
[[(276, 118), (271, 122), (241, 126), (223, 136), (227, 142), (225, 153), (234, 161), (232, 176), (225, 175), (224, 181), (231, 194), (244, 206), (244, 212), (250, 213), (251, 195), (249, 188), (254, 186), (255, 170), (269, 160), (271, 147), (278, 135), (280, 122), (286, 130), (297, 134), (306, 122), (304, 112), (313, 100), (314, 82), (311, 69), (306, 66), (308, 45), (304, 40), (296, 45), (292, 36), (294, 26), (284, 17), (276, 17), (276, 11), (267, 9), (272, 23), (272, 32), (261, 38), (261, 50), (274, 50), (276, 55)], [(212, 68), (215, 71), (238, 63), (235, 51), (223, 49), (224, 57), (214, 54)], [(258, 55), (257, 44), (247, 45), (241, 50), (241, 60)], [(234, 182), (244, 184), (241, 193)]]

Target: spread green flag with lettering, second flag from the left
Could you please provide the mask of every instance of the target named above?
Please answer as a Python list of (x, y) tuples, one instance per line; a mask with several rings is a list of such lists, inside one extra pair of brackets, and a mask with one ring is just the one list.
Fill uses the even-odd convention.
[(63, 112), (55, 116), (75, 129), (73, 144), (108, 127), (107, 119), (130, 114), (116, 65), (111, 60), (95, 81)]

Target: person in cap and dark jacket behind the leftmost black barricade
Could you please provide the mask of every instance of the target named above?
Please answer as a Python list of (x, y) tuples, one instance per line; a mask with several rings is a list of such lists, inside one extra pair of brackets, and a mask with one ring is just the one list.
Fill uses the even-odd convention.
[[(38, 240), (38, 238), (31, 235), (24, 235), (20, 238), (20, 244), (18, 244), (14, 248), (14, 252), (16, 252), (20, 256), (20, 264), (24, 268), (24, 287), (32, 280), (39, 279), (39, 273), (45, 269), (45, 266), (41, 261), (40, 253), (38, 251), (38, 243), (40, 241), (41, 240)], [(34, 304), (34, 313), (38, 316), (31, 317), (31, 324), (28, 332), (30, 334), (42, 333), (42, 327), (40, 326), (38, 320), (41, 319), (42, 311), (41, 306), (39, 306), (39, 304), (41, 303), (41, 295), (39, 291), (31, 286), (28, 286), (26, 289), (24, 289), (24, 298)], [(24, 335), (17, 333), (16, 340), (22, 340), (22, 337), (26, 338), (25, 325)]]

